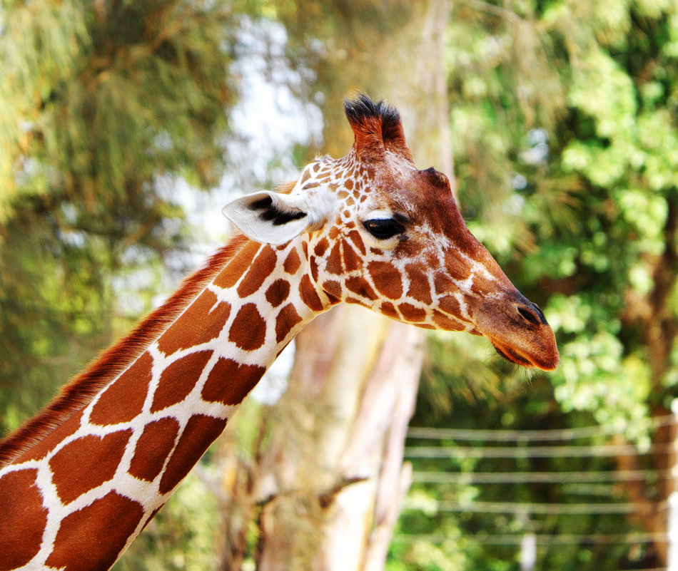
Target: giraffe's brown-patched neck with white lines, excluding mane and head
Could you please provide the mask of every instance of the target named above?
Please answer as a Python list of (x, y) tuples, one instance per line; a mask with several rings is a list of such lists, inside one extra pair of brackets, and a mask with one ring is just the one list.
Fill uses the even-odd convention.
[(112, 565), (285, 345), (333, 303), (307, 269), (305, 242), (245, 242), (171, 319), (151, 316), (162, 325), (134, 358), (0, 468), (0, 569)]

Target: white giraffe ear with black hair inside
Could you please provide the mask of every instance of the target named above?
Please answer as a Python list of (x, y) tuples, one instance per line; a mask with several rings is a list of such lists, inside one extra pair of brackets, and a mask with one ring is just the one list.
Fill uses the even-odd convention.
[(320, 227), (327, 219), (322, 206), (299, 196), (264, 191), (231, 200), (221, 212), (248, 238), (277, 246)]

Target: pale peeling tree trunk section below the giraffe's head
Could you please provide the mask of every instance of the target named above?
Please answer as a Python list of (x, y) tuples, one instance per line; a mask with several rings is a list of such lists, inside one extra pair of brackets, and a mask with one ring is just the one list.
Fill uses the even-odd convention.
[(409, 485), (403, 443), (422, 339), (357, 307), (335, 309), (298, 336), (260, 458), (275, 491), (260, 518), (258, 570), (383, 567)]

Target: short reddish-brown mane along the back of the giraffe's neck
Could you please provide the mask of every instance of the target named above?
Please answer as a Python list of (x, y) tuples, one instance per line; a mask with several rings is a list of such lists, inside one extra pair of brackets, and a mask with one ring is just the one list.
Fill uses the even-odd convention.
[(231, 238), (226, 246), (213, 254), (202, 269), (187, 277), (161, 307), (148, 314), (130, 333), (103, 351), (98, 359), (66, 384), (59, 395), (36, 416), (0, 441), (0, 468), (19, 458), (47, 433), (66, 422), (90, 403), (96, 393), (123, 373), (216, 277), (246, 241), (247, 238), (243, 235)]

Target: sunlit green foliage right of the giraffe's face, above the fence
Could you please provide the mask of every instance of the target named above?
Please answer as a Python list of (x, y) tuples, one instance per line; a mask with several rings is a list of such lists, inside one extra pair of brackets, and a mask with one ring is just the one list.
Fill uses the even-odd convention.
[[(652, 391), (675, 377), (647, 329), (664, 314), (675, 323), (678, 309), (674, 277), (657, 282), (676, 248), (676, 6), (515, 1), (455, 12), (452, 135), (469, 225), (545, 307), (562, 405), (632, 418), (629, 436), (647, 435)], [(649, 366), (660, 350), (662, 364)]]

